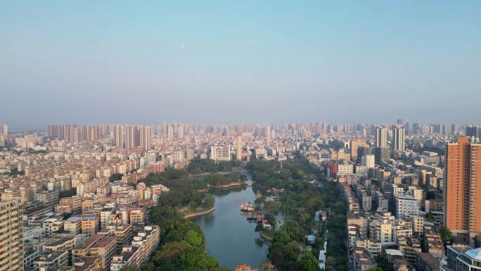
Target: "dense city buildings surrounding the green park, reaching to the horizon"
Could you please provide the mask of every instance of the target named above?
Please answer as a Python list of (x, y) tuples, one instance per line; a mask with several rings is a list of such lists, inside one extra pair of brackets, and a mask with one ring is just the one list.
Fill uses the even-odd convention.
[[(282, 166), (302, 156), (342, 191), (352, 270), (379, 266), (379, 256), (395, 270), (442, 270), (448, 261), (441, 227), (464, 240), (456, 245), (474, 247), (480, 232), (473, 129), (325, 122), (49, 125), (47, 132), (4, 137), (0, 196), (11, 204), (8, 221), (23, 229), (8, 238), (23, 239), (10, 246), (23, 251), (18, 263), (25, 270), (120, 270), (142, 267), (159, 245), (161, 230), (148, 225), (148, 208), (169, 187), (146, 185), (149, 173), (186, 168), (194, 158), (241, 165), (277, 160)], [(323, 251), (319, 266), (325, 267)], [(17, 263), (13, 254), (6, 257)]]

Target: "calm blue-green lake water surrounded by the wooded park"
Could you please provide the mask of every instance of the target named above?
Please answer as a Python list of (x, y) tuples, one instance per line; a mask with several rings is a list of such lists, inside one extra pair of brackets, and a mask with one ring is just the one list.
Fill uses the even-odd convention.
[[(250, 177), (250, 176), (248, 176)], [(193, 218), (205, 234), (207, 254), (233, 270), (240, 264), (257, 268), (266, 259), (267, 244), (259, 244), (255, 222), (241, 213), (241, 203), (255, 201), (252, 187), (210, 191), (215, 198), (213, 213)]]

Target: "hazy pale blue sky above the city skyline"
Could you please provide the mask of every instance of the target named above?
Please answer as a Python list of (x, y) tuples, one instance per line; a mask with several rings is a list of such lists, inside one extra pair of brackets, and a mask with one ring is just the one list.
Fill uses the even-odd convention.
[(481, 1), (0, 1), (0, 94), (11, 127), (481, 122)]

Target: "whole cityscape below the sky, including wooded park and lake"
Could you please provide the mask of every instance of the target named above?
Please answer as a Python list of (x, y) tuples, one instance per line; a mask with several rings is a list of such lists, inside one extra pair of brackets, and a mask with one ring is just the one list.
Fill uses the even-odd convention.
[[(201, 270), (209, 271), (288, 271), (275, 256), (284, 254), (273, 251), (295, 240), (302, 247), (292, 252), (301, 259), (295, 265), (316, 271), (439, 270), (445, 261), (458, 268), (481, 250), (481, 125), (397, 119), (352, 126), (51, 124), (21, 133), (0, 127), (0, 232), (13, 241), (0, 255), (14, 270), (199, 270), (198, 263), (158, 261), (172, 255), (173, 235), (196, 244), (195, 257), (210, 260)], [(254, 185), (270, 188), (255, 192)], [(278, 213), (279, 229), (276, 208), (293, 210)], [(225, 246), (232, 229), (236, 246)], [(252, 242), (263, 234), (274, 235), (269, 253)], [(445, 248), (458, 254), (445, 257)], [(340, 249), (338, 263), (326, 260)]]

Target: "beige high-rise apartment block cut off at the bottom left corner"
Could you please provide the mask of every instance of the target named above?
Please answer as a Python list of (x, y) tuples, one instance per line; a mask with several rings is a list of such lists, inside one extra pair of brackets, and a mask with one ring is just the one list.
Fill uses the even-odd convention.
[(0, 201), (0, 271), (23, 271), (22, 207)]

